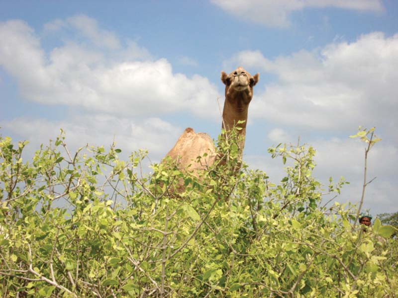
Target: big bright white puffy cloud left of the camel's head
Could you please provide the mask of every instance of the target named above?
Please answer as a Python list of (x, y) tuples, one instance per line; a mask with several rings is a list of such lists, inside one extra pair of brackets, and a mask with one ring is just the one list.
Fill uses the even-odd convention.
[[(91, 18), (77, 16), (65, 22), (95, 43), (104, 34), (103, 46), (120, 47)], [(57, 24), (62, 27), (62, 22)], [(76, 41), (46, 53), (33, 29), (20, 20), (0, 23), (0, 39), (0, 65), (17, 79), (28, 100), (124, 116), (185, 110), (199, 117), (219, 117), (217, 109), (211, 108), (219, 93), (207, 78), (174, 74), (166, 59), (150, 60), (148, 51), (132, 41), (118, 49), (125, 60)]]

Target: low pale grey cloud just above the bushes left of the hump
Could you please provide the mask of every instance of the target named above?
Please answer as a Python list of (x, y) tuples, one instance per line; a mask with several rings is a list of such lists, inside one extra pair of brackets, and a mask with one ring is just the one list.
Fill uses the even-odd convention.
[(75, 116), (61, 121), (16, 118), (3, 121), (1, 126), (6, 134), (15, 136), (18, 140), (28, 140), (30, 153), (38, 149), (40, 144), (54, 140), (60, 129), (63, 129), (71, 150), (86, 144), (106, 147), (114, 141), (117, 148), (124, 152), (124, 158), (134, 150), (148, 149), (154, 162), (159, 162), (166, 155), (183, 132), (183, 129), (160, 118), (132, 121), (104, 114)]

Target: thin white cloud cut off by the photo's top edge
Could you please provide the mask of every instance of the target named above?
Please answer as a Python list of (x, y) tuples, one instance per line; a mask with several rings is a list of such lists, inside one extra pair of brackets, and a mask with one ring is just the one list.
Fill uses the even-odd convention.
[(380, 12), (381, 0), (211, 0), (227, 12), (247, 21), (270, 27), (289, 27), (293, 11), (313, 7), (336, 7), (358, 11)]

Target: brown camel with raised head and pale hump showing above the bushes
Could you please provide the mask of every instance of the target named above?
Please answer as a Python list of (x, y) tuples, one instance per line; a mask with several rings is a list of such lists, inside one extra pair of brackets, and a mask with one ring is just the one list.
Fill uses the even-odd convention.
[[(240, 127), (238, 131), (242, 140), (239, 143), (239, 156), (243, 154), (246, 136), (247, 111), (253, 98), (253, 86), (258, 82), (259, 74), (251, 75), (238, 67), (230, 74), (221, 72), (221, 81), (225, 84), (225, 102), (222, 112), (222, 128), (228, 135), (233, 126)], [(202, 157), (198, 162), (198, 156)], [(199, 176), (200, 170), (214, 164), (217, 154), (214, 143), (206, 133), (195, 133), (192, 128), (186, 128), (176, 145), (167, 153), (176, 161), (180, 170), (192, 171)]]

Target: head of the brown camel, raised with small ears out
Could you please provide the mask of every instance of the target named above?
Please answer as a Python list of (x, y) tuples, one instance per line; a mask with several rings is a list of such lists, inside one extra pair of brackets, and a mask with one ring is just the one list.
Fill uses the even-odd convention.
[(259, 76), (259, 74), (252, 76), (242, 67), (238, 67), (230, 74), (221, 72), (221, 80), (225, 84), (225, 100), (241, 99), (241, 104), (249, 105), (253, 97), (253, 87), (257, 84)]

